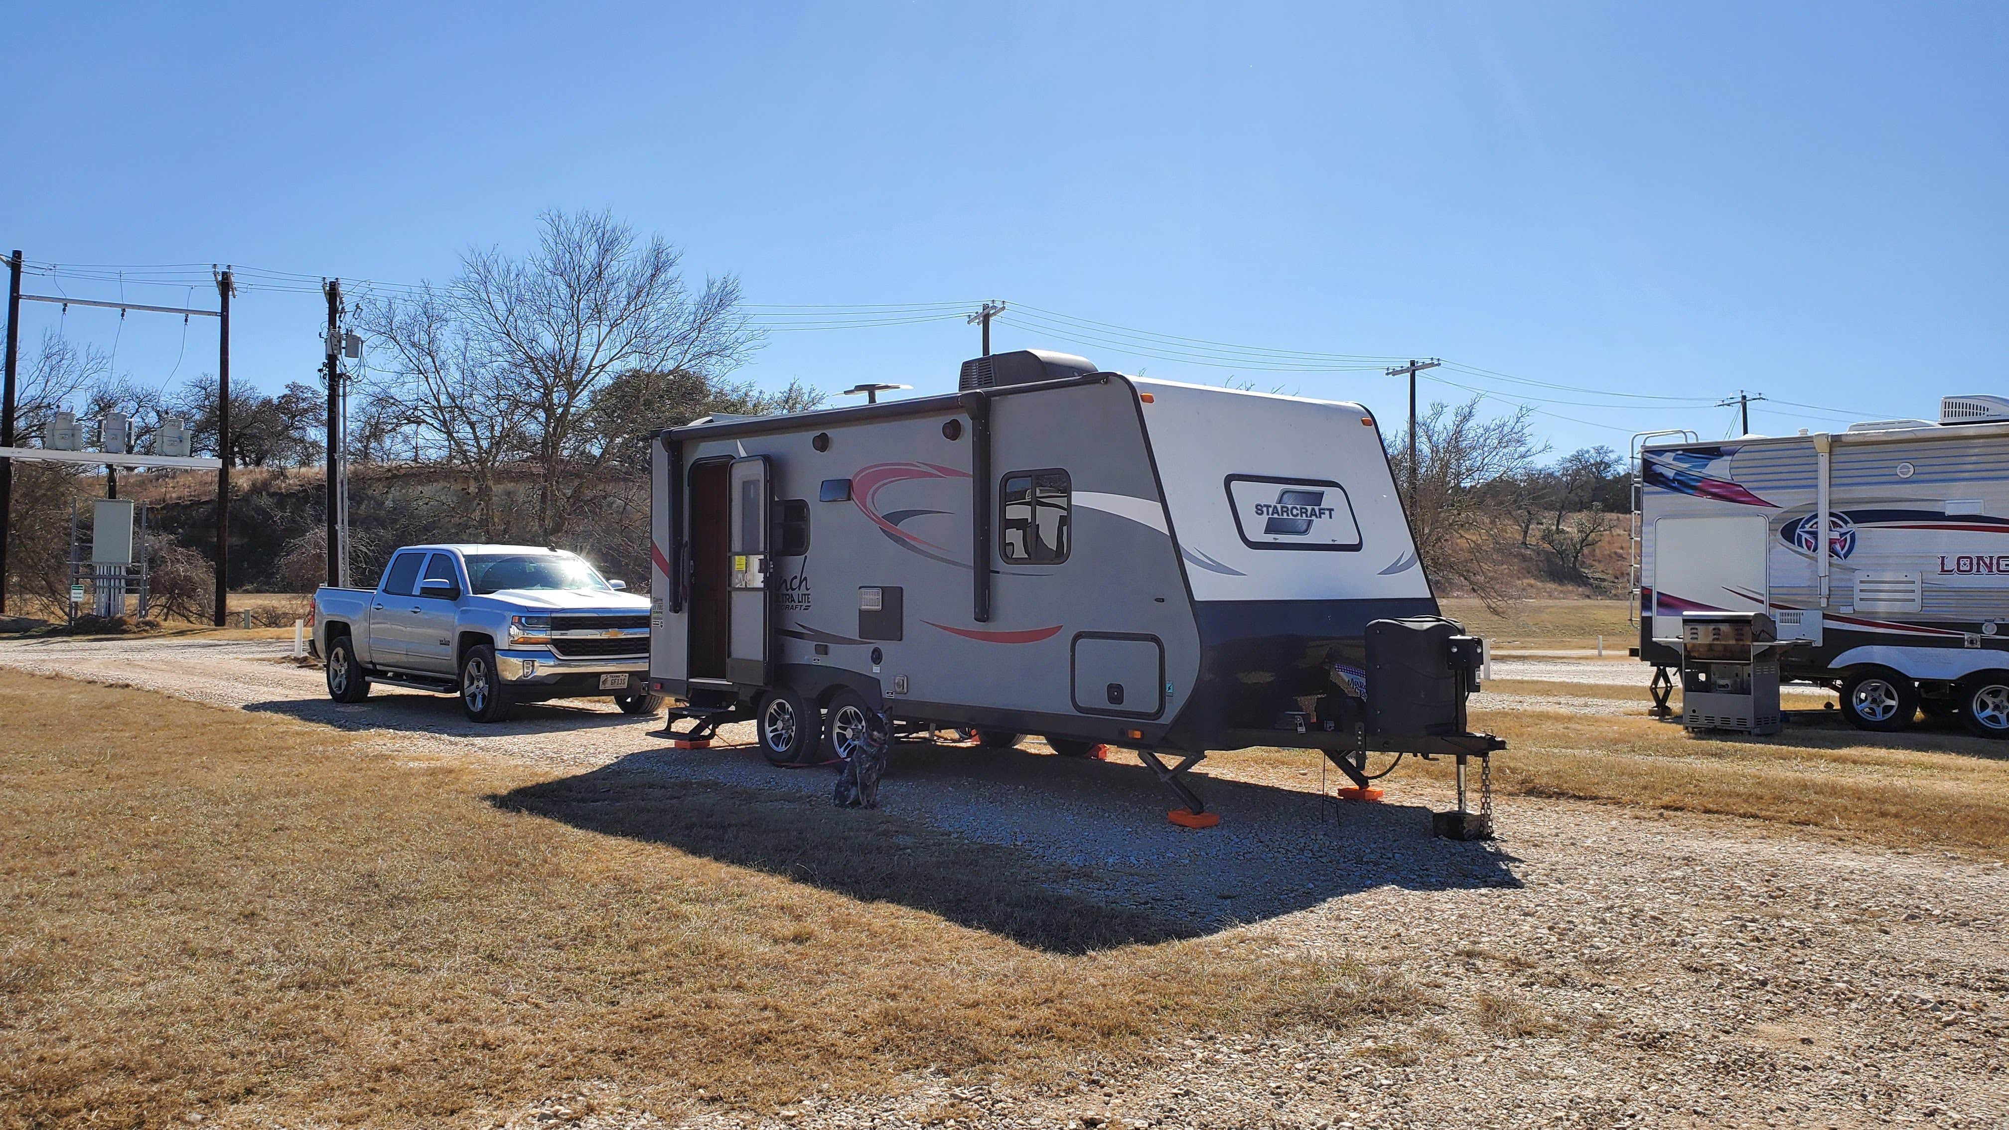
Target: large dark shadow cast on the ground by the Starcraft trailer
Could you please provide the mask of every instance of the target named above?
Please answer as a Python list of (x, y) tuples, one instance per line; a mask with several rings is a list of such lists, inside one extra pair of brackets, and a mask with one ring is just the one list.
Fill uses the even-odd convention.
[(1266, 784), (1195, 782), (1221, 824), (1175, 828), (1141, 766), (902, 744), (878, 810), (834, 772), (751, 750), (645, 752), (490, 800), (1053, 951), (1203, 937), (1374, 887), (1519, 887), (1497, 844), (1430, 836), (1406, 804), (1326, 810)]

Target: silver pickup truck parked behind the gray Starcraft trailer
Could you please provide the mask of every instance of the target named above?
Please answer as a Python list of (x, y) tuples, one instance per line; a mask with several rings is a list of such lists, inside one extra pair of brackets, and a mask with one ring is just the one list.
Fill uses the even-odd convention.
[(530, 545), (408, 545), (376, 589), (319, 587), (313, 643), (327, 696), (370, 684), (458, 694), (476, 722), (518, 702), (613, 696), (655, 714), (649, 599), (603, 579), (577, 553)]

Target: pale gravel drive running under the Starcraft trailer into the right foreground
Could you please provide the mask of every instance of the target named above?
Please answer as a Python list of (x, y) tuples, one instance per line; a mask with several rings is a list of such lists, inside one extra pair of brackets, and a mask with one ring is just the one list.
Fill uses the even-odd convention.
[[(472, 726), (440, 696), (338, 706), (289, 643), (0, 641), (0, 666), (480, 750), (554, 772), (617, 766), (828, 792), (828, 770), (749, 750), (671, 752), (599, 704)], [(1515, 662), (1517, 668), (1535, 662)], [(1499, 678), (1561, 680), (1505, 670)], [(1587, 668), (1591, 664), (1575, 664)], [(1625, 664), (1597, 664), (1631, 672)], [(1581, 682), (1605, 682), (1589, 678)], [(1565, 700), (1589, 704), (1595, 700)], [(749, 734), (725, 738), (749, 740)], [(1511, 756), (1511, 752), (1507, 754)], [(1495, 844), (1428, 834), (1446, 796), (1390, 778), (1380, 806), (1322, 804), (1302, 768), (1215, 758), (1219, 828), (1163, 820), (1137, 764), (902, 746), (884, 808), (1077, 865), (1099, 901), (1183, 933), (1248, 931), (1386, 963), (1422, 1005), (1346, 1035), (1175, 1040), (1031, 1092), (914, 1076), (814, 1096), (763, 1126), (1929, 1126), (2009, 1124), (2009, 875), (1999, 863), (1838, 844), (1706, 816), (1515, 798)], [(675, 1092), (587, 1086), (514, 1126), (741, 1126)]]

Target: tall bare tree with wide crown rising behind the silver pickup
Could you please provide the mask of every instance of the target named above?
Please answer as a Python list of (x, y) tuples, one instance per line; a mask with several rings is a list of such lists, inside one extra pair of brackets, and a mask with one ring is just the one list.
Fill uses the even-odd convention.
[(482, 360), (508, 372), (538, 460), (536, 525), (546, 541), (625, 450), (595, 394), (629, 372), (719, 378), (759, 344), (739, 308), (739, 279), (709, 277), (693, 292), (681, 251), (639, 241), (611, 213), (548, 211), (526, 259), (472, 251), (452, 284), (454, 308)]

